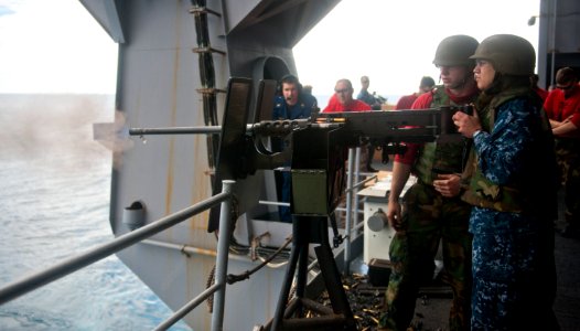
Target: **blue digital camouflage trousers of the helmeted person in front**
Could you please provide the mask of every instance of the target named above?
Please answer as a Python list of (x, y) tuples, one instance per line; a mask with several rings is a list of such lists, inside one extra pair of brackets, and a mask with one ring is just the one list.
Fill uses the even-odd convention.
[(498, 213), (474, 207), (472, 221), (537, 224), (473, 236), (471, 330), (559, 330), (551, 217)]

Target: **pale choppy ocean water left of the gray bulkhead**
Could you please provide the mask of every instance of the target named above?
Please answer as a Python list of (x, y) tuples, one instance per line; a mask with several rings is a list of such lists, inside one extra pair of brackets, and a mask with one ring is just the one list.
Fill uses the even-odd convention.
[[(114, 238), (111, 153), (93, 140), (112, 117), (112, 96), (0, 95), (0, 287)], [(171, 313), (110, 256), (0, 306), (0, 330), (151, 330)]]

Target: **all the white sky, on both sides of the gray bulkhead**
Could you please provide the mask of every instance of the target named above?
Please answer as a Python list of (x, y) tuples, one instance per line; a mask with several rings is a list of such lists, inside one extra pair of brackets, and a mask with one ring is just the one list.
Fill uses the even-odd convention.
[[(342, 0), (294, 47), (300, 81), (330, 95), (340, 78), (355, 89), (406, 95), (452, 34), (495, 33), (537, 47), (539, 0)], [(117, 45), (77, 0), (0, 0), (0, 93), (114, 94)]]

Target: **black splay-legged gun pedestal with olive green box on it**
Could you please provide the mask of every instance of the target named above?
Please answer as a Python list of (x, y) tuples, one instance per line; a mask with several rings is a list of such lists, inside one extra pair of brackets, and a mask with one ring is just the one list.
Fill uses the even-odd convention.
[[(345, 148), (339, 129), (297, 130), (292, 136), (292, 250), (271, 330), (356, 330), (329, 243), (329, 215), (344, 186)], [(335, 224), (333, 224), (335, 226)], [(304, 297), (310, 244), (314, 247), (332, 309)], [(298, 274), (297, 274), (298, 273)], [(297, 275), (297, 299), (288, 305)], [(304, 308), (320, 316), (304, 317)], [(292, 318), (291, 318), (292, 317)]]

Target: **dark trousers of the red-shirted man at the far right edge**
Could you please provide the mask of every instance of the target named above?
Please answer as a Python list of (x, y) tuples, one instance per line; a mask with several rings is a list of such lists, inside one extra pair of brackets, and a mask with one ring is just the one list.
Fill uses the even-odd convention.
[(580, 229), (580, 139), (556, 139), (556, 157), (565, 192), (566, 222)]

